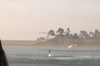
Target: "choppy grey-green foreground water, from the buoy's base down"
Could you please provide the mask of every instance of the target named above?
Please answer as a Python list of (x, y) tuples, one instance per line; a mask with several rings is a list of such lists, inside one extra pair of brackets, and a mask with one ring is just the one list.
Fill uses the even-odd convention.
[(100, 56), (52, 54), (7, 55), (10, 66), (99, 66)]

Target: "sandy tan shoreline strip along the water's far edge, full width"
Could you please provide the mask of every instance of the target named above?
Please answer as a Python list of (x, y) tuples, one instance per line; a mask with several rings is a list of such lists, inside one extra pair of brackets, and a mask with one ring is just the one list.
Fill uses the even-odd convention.
[[(46, 48), (68, 48), (71, 44), (46, 44), (39, 43), (35, 40), (2, 40), (3, 46), (30, 46), (30, 47), (46, 47)], [(100, 49), (100, 45), (78, 45), (77, 48), (82, 49)]]

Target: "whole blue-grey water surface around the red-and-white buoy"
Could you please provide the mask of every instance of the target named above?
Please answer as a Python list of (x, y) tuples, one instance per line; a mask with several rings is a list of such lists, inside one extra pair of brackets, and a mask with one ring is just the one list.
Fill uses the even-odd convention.
[[(9, 66), (100, 66), (100, 49), (4, 46)], [(51, 50), (51, 57), (48, 56)]]

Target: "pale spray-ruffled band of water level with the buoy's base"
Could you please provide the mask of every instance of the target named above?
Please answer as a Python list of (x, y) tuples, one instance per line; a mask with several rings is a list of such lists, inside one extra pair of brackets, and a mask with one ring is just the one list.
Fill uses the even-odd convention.
[(82, 55), (64, 55), (53, 54), (50, 57), (47, 54), (34, 54), (34, 55), (7, 55), (8, 59), (32, 59), (32, 60), (77, 60), (77, 59), (100, 59), (100, 56), (82, 56)]

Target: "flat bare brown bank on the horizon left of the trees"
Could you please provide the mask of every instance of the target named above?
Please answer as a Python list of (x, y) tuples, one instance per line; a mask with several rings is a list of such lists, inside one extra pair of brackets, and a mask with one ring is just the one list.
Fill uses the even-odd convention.
[(2, 46), (32, 46), (36, 43), (35, 40), (2, 40)]

